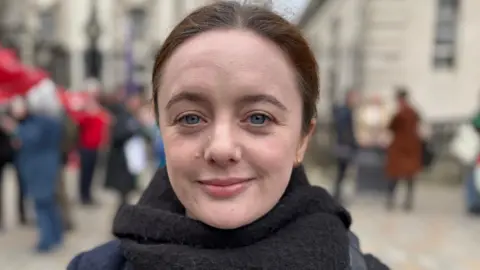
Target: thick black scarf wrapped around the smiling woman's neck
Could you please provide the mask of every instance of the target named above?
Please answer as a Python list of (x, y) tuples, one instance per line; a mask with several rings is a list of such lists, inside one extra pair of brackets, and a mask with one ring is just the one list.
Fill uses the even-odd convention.
[(280, 202), (264, 217), (220, 230), (185, 216), (166, 170), (137, 205), (122, 207), (113, 232), (128, 269), (348, 269), (351, 218), (303, 167), (292, 172)]

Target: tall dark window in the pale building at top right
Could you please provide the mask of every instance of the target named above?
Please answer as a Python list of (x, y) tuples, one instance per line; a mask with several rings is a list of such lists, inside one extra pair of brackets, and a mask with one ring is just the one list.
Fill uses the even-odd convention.
[(435, 68), (453, 68), (456, 64), (458, 11), (459, 0), (437, 0)]

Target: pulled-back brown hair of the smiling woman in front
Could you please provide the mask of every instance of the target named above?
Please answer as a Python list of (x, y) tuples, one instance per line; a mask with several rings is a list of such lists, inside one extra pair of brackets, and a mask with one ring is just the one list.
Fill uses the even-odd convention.
[(318, 66), (315, 56), (301, 32), (281, 16), (261, 7), (219, 1), (203, 6), (183, 19), (158, 51), (152, 74), (153, 101), (158, 121), (158, 91), (162, 68), (175, 49), (186, 40), (215, 29), (247, 29), (268, 38), (289, 57), (298, 75), (303, 99), (303, 132), (316, 117), (319, 96)]

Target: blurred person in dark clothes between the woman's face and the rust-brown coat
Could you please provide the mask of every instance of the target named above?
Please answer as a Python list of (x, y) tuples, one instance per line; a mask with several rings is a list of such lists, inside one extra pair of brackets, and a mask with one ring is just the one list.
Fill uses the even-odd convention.
[(333, 197), (338, 202), (342, 201), (342, 183), (358, 148), (353, 115), (356, 100), (357, 93), (349, 91), (345, 96), (344, 104), (336, 105), (333, 110), (337, 139), (334, 149), (337, 158), (337, 176), (335, 178)]

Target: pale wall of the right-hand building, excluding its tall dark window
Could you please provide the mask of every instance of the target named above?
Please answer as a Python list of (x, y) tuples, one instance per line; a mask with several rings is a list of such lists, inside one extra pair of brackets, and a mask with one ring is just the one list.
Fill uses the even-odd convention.
[[(451, 70), (433, 66), (436, 0), (363, 1), (366, 5), (360, 0), (329, 1), (304, 29), (322, 70), (324, 101), (319, 109), (329, 101), (325, 93), (329, 84), (326, 71), (331, 67), (329, 30), (333, 18), (338, 17), (342, 21), (339, 47), (343, 51), (340, 91), (354, 85), (349, 55), (354, 54), (352, 45), (360, 36), (364, 45), (361, 90), (366, 95), (391, 100), (394, 87), (404, 85), (427, 119), (468, 117), (479, 100), (480, 1), (460, 1), (457, 64)], [(360, 27), (362, 7), (366, 7), (366, 20)]]

